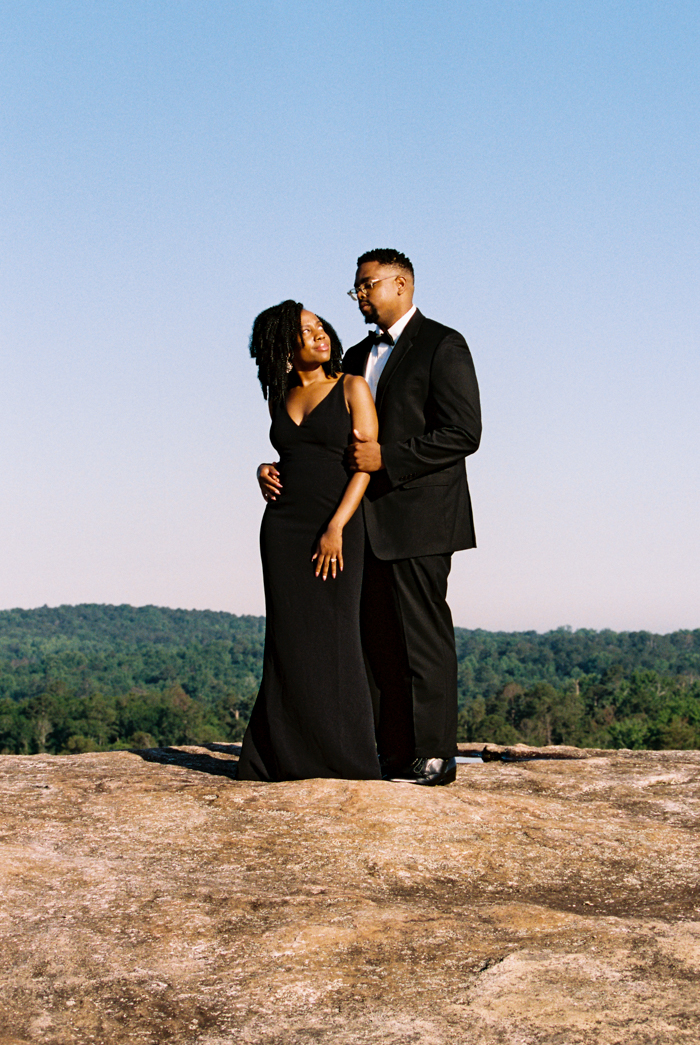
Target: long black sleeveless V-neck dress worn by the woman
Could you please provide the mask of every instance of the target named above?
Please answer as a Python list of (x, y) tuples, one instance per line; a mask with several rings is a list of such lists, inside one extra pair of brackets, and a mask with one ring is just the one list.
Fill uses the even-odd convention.
[(260, 531), (265, 650), (239, 780), (381, 775), (359, 641), (359, 510), (343, 531), (343, 573), (324, 581), (311, 562), (348, 483), (343, 455), (352, 423), (344, 380), (301, 424), (284, 403), (273, 412), (270, 438), (280, 457), (282, 493), (267, 504)]

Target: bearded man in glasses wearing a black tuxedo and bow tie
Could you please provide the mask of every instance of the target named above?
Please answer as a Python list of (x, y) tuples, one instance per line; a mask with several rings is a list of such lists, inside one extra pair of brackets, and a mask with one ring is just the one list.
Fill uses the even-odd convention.
[(451, 554), (475, 545), (464, 459), (480, 443), (479, 386), (462, 334), (413, 303), (414, 271), (397, 251), (357, 259), (354, 288), (376, 331), (350, 348), (379, 417), (378, 441), (355, 432), (353, 470), (372, 473), (363, 644), (384, 776), (449, 784), (457, 765), (457, 654), (446, 602)]

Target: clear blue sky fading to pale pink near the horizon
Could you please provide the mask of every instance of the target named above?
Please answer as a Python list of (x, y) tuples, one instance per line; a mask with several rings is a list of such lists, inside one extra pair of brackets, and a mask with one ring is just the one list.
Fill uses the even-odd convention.
[(248, 357), (365, 250), (482, 384), (457, 624), (700, 627), (697, 2), (8, 0), (0, 606), (262, 613)]

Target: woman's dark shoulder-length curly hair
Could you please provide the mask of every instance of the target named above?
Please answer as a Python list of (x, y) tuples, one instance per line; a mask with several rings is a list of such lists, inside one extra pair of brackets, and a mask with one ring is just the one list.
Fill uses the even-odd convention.
[[(272, 403), (283, 399), (293, 385), (299, 384), (296, 371), (287, 370), (301, 334), (301, 301), (281, 301), (256, 317), (251, 333), (251, 356), (258, 365), (262, 394)], [(343, 346), (330, 323), (319, 316), (330, 340), (330, 359), (323, 364), (329, 377), (341, 372)]]

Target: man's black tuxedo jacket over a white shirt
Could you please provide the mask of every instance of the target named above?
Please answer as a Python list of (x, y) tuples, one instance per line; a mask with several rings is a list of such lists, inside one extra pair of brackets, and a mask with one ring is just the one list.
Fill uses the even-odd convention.
[[(365, 373), (368, 336), (348, 349), (346, 373)], [(477, 449), (481, 409), (467, 343), (418, 310), (379, 378), (376, 395), (384, 469), (363, 502), (372, 551), (407, 559), (474, 548), (464, 459)]]

